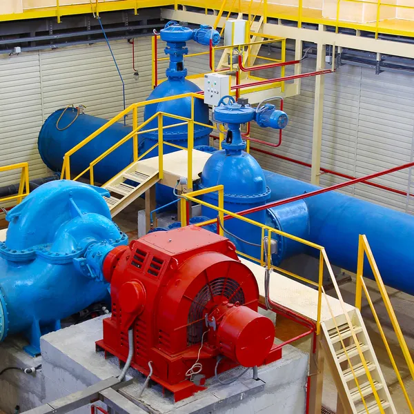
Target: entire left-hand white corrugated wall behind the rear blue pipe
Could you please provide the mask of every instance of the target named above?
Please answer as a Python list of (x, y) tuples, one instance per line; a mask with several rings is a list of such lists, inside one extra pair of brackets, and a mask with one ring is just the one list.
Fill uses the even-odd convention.
[[(132, 45), (126, 40), (110, 44), (124, 78), (126, 106), (145, 100), (151, 91), (151, 37), (135, 39), (137, 79)], [(163, 51), (160, 45), (160, 57)], [(165, 64), (160, 66), (162, 71)], [(30, 178), (48, 175), (37, 137), (52, 112), (81, 103), (88, 114), (109, 119), (124, 108), (122, 83), (106, 43), (0, 55), (0, 73), (0, 165), (28, 161)], [(139, 115), (142, 118), (142, 111)], [(0, 186), (18, 182), (19, 176), (19, 172), (1, 173)]]

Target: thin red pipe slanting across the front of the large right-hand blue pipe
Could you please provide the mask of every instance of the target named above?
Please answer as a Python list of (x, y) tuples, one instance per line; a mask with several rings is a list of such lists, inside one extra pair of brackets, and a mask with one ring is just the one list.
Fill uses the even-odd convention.
[[(304, 193), (300, 195), (295, 195), (294, 197), (288, 197), (286, 199), (282, 199), (279, 201), (273, 201), (273, 203), (264, 204), (264, 206), (258, 206), (254, 208), (248, 208), (248, 210), (239, 211), (238, 215), (248, 215), (251, 213), (256, 213), (257, 211), (266, 210), (266, 208), (273, 208), (276, 206), (282, 206), (283, 204), (292, 203), (293, 201), (298, 201), (302, 199), (306, 199), (308, 197), (313, 197), (315, 195), (328, 193), (329, 191), (333, 190), (339, 190), (339, 188), (344, 188), (348, 186), (353, 186), (354, 184), (362, 183), (364, 181), (368, 181), (370, 179), (374, 179), (377, 177), (382, 177), (382, 175), (391, 174), (391, 172), (396, 172), (400, 170), (404, 170), (405, 168), (411, 168), (414, 167), (414, 162), (409, 162), (407, 164), (403, 164), (402, 166), (397, 166), (393, 168), (389, 168), (388, 170), (384, 170), (381, 172), (375, 172), (375, 174), (366, 175), (365, 177), (355, 178), (351, 179), (350, 181), (345, 181), (344, 183), (335, 184), (334, 186), (326, 187), (326, 188), (320, 188), (319, 190), (311, 191), (311, 193)], [(233, 219), (233, 216), (226, 215), (224, 216), (224, 220)]]

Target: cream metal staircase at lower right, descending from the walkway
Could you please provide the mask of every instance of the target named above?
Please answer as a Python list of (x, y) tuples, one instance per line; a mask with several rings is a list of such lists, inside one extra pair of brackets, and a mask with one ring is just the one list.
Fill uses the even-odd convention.
[[(397, 414), (361, 313), (355, 308), (348, 313), (348, 317), (351, 320), (353, 331), (351, 331), (346, 315), (339, 315), (335, 317), (335, 321), (334, 319), (329, 319), (321, 324), (324, 333), (322, 346), (324, 347), (326, 361), (331, 368), (345, 413), (381, 413), (381, 408), (375, 400), (375, 388), (383, 412), (385, 414)], [(354, 334), (360, 351), (364, 355), (374, 386), (371, 385), (366, 375), (362, 357), (355, 343)], [(348, 358), (351, 360), (352, 368)], [(357, 377), (357, 380), (355, 380), (355, 377)], [(365, 404), (362, 401), (362, 397), (364, 397)]]

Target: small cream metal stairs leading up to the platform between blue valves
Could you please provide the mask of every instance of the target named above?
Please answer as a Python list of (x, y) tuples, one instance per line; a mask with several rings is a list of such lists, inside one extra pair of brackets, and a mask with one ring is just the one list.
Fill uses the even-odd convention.
[(137, 161), (103, 184), (102, 188), (110, 192), (110, 197), (103, 197), (103, 199), (108, 204), (111, 216), (117, 215), (157, 181), (159, 181), (158, 171), (141, 171)]

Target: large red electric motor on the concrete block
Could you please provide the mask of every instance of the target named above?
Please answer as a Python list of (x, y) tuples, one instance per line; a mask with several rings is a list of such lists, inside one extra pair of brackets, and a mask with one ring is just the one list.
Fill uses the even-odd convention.
[(204, 389), (218, 362), (221, 373), (282, 356), (273, 323), (257, 313), (255, 276), (226, 237), (196, 226), (150, 233), (112, 250), (103, 273), (112, 316), (97, 348), (126, 361), (133, 329), (131, 366), (148, 375), (151, 362), (151, 379), (175, 401)]

